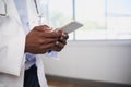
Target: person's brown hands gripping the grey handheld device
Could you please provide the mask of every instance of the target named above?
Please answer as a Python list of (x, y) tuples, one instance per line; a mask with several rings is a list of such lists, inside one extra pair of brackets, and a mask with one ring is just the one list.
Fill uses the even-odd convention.
[(49, 50), (61, 51), (69, 38), (62, 30), (50, 32), (47, 25), (36, 26), (26, 35), (25, 52), (40, 54)]

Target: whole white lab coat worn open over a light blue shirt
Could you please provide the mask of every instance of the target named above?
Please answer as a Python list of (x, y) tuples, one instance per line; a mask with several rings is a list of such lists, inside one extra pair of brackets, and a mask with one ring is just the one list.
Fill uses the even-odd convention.
[[(27, 1), (29, 25), (37, 25), (37, 13)], [(5, 2), (5, 4), (4, 4)], [(13, 0), (0, 0), (0, 87), (23, 87), (25, 70), (25, 33)], [(37, 55), (38, 57), (38, 55)], [(37, 58), (40, 87), (47, 87), (43, 62)], [(43, 76), (41, 76), (43, 75)]]

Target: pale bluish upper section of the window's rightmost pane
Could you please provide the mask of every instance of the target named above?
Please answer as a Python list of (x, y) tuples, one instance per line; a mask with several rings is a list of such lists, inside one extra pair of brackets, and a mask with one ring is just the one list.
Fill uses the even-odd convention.
[(131, 15), (131, 0), (107, 0), (108, 15)]

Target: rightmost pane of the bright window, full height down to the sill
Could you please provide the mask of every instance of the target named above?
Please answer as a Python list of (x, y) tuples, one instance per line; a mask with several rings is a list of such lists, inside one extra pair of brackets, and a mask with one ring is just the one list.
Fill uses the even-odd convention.
[(131, 0), (107, 0), (108, 39), (131, 39)]

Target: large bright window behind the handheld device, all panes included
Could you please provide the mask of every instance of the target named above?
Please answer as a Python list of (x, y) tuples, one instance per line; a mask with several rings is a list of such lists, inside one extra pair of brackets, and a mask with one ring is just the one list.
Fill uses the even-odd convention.
[(60, 27), (72, 20), (84, 24), (73, 40), (131, 39), (131, 0), (41, 0), (43, 21)]

